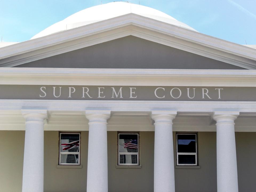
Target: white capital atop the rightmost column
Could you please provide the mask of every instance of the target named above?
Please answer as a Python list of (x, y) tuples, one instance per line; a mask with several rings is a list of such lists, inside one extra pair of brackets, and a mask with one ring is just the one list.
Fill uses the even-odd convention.
[(212, 118), (217, 123), (234, 123), (238, 115), (239, 111), (214, 111)]

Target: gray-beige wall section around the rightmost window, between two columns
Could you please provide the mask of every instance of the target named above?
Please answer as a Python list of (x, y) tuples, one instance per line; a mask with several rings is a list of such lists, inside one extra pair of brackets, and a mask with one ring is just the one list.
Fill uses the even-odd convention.
[[(174, 132), (174, 163), (176, 135)], [(175, 169), (176, 192), (216, 192), (216, 132), (198, 132), (198, 165), (200, 169)]]

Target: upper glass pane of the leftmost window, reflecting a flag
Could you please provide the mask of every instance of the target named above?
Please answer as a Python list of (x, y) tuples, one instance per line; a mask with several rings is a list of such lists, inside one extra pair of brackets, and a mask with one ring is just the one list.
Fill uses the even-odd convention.
[(79, 134), (61, 134), (62, 152), (79, 152)]

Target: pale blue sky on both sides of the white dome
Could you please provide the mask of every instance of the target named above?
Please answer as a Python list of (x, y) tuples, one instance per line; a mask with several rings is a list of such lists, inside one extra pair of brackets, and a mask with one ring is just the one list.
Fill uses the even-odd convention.
[[(113, 1), (102, 0), (102, 3), (109, 2)], [(256, 45), (256, 0), (129, 2), (160, 10), (201, 33), (238, 44)], [(69, 15), (100, 4), (101, 0), (1, 1), (0, 38), (6, 42), (29, 40)]]

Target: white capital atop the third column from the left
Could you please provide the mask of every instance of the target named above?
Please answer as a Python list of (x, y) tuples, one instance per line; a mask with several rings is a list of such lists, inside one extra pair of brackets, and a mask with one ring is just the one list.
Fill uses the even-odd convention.
[(175, 119), (177, 111), (151, 111), (151, 118), (156, 123), (171, 123), (173, 124), (173, 119)]

